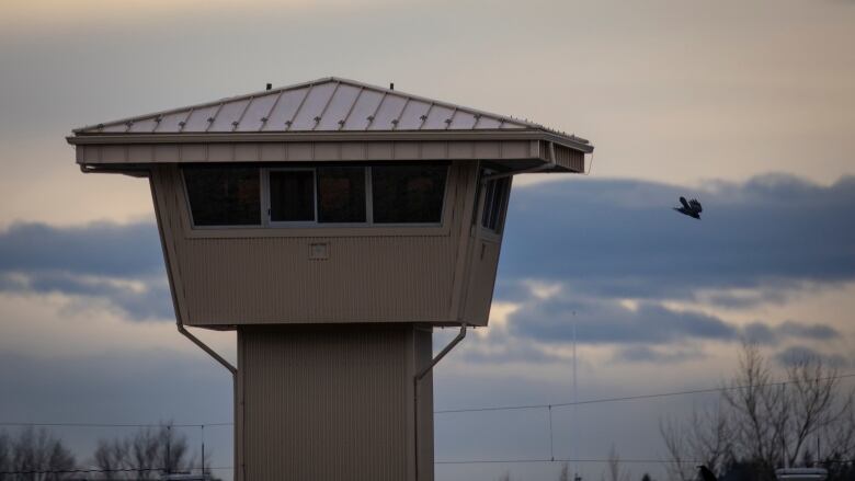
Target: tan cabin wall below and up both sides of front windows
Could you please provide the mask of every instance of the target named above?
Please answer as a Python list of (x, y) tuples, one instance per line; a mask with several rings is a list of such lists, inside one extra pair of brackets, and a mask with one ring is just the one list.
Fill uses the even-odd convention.
[[(438, 233), (440, 228), (428, 228), (435, 232), (430, 236), (401, 234), (403, 230), (366, 234), (362, 229), (353, 236), (321, 237), (317, 232), (322, 229), (314, 229), (315, 237), (280, 237), (267, 229), (218, 230), (223, 234), (192, 230), (176, 167), (159, 167), (152, 183), (183, 322), (218, 327), (466, 320), (486, 325), (495, 265), (477, 267), (483, 262), (465, 260), (463, 265), (469, 267), (458, 268), (458, 259), (480, 255), (470, 242), (461, 242), (461, 232), (468, 237), (471, 224), (474, 171), (475, 165), (454, 164), (449, 227)], [(328, 244), (329, 259), (308, 259), (315, 242)], [(474, 305), (467, 295), (480, 301)]]

